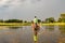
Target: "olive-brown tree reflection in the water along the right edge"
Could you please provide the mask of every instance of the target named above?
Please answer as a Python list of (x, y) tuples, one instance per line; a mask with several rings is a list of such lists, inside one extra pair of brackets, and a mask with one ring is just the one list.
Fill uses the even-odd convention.
[(57, 43), (65, 43), (65, 26), (58, 26), (58, 29), (61, 31), (61, 35)]

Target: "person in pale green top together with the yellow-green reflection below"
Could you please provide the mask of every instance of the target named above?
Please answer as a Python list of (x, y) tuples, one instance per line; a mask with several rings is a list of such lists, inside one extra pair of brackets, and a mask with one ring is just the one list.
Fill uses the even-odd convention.
[(38, 25), (37, 16), (35, 16), (34, 20), (31, 22), (31, 26), (32, 26), (32, 30), (34, 30), (34, 41), (37, 42), (38, 41), (37, 32), (40, 28), (39, 25)]

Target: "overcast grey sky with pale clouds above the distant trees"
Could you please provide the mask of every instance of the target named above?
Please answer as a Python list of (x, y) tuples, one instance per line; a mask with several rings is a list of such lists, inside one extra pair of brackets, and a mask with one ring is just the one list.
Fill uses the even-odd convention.
[(65, 0), (0, 0), (0, 19), (57, 19), (65, 13)]

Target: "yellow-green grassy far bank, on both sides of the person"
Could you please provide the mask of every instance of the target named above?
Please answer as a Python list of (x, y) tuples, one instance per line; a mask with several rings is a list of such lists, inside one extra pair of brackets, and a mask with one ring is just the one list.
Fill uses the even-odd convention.
[[(30, 23), (0, 23), (0, 26), (30, 26)], [(41, 26), (51, 26), (51, 25), (65, 25), (65, 23), (49, 23), (41, 24)]]

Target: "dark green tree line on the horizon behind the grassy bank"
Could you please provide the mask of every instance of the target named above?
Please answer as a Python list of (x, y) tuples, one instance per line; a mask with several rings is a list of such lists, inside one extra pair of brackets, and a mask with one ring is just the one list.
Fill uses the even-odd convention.
[[(31, 23), (32, 20), (28, 22), (28, 20), (23, 20), (23, 19), (8, 19), (8, 20), (3, 20), (0, 19), (0, 23)], [(65, 23), (65, 14), (61, 14), (60, 18), (57, 20), (54, 19), (54, 17), (49, 17), (46, 18), (44, 20), (38, 19), (39, 23)]]

